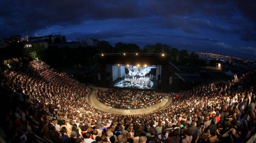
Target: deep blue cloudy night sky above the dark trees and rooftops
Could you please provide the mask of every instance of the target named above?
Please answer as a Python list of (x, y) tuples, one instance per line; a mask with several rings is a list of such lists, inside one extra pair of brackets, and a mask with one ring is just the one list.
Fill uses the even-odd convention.
[(0, 0), (0, 37), (64, 34), (256, 60), (256, 1)]

